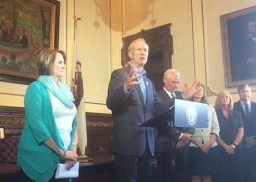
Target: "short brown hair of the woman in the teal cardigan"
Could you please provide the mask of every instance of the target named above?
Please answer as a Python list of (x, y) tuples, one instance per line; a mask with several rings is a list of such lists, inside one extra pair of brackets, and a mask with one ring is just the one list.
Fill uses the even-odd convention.
[(37, 56), (37, 67), (39, 75), (51, 75), (52, 66), (55, 61), (57, 53), (61, 54), (64, 58), (64, 64), (66, 64), (66, 53), (62, 50), (57, 49), (44, 49)]

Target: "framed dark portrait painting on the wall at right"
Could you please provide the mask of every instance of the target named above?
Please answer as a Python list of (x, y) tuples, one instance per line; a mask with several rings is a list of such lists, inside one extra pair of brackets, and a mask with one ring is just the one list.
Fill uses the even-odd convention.
[(256, 6), (220, 16), (226, 87), (256, 84)]

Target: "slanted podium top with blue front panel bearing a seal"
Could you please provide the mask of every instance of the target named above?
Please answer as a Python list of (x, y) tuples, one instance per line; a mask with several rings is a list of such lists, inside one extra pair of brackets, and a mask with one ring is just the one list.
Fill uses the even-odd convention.
[(175, 127), (207, 128), (208, 105), (204, 103), (175, 99), (174, 103), (162, 104), (157, 114), (140, 126), (165, 127), (168, 122)]

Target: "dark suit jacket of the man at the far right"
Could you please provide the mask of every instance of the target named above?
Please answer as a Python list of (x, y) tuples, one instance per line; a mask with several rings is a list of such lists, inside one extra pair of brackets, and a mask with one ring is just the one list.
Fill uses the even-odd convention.
[(251, 113), (245, 114), (240, 101), (234, 103), (234, 110), (242, 114), (244, 137), (256, 136), (256, 103), (251, 101)]

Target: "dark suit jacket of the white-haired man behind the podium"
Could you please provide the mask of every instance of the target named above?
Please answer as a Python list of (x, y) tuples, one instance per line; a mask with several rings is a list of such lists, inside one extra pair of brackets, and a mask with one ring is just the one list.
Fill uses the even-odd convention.
[[(182, 99), (181, 92), (175, 92), (176, 99)], [(171, 103), (173, 102), (173, 98), (171, 99), (168, 93), (164, 89), (158, 92), (158, 97), (161, 103)], [(166, 121), (168, 122), (168, 121)], [(175, 148), (177, 140), (181, 135), (181, 132), (188, 132), (187, 128), (177, 128), (177, 127), (159, 127), (157, 132), (157, 139), (155, 144), (155, 151), (158, 152), (172, 152), (172, 149)]]

